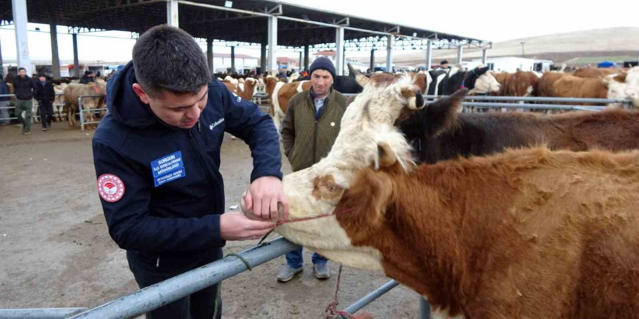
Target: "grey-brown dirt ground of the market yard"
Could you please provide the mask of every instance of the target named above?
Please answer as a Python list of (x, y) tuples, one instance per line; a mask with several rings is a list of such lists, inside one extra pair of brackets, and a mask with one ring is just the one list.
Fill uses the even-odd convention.
[[(17, 126), (0, 126), (0, 308), (93, 307), (137, 289), (96, 195), (92, 135), (65, 122), (47, 132), (34, 124), (31, 136), (21, 135)], [(290, 166), (284, 162), (286, 174)], [(227, 208), (247, 188), (251, 169), (249, 147), (225, 137)], [(227, 242), (224, 250), (234, 253), (256, 242)], [(337, 264), (330, 263), (328, 281), (318, 281), (305, 250), (304, 272), (285, 284), (275, 280), (282, 265), (284, 256), (225, 280), (222, 317), (324, 318)], [(388, 280), (344, 269), (339, 308)], [(417, 301), (416, 293), (399, 286), (364, 310), (375, 318), (417, 318)]]

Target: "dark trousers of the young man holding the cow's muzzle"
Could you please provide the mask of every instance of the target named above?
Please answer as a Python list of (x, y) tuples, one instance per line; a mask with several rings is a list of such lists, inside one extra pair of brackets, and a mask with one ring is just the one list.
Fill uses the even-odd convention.
[[(127, 251), (128, 267), (140, 288), (159, 283), (220, 258), (222, 258), (222, 248), (191, 256), (161, 256), (159, 260), (158, 256)], [(148, 312), (146, 318), (220, 319), (222, 318), (222, 298), (218, 295), (218, 285), (204, 288)]]

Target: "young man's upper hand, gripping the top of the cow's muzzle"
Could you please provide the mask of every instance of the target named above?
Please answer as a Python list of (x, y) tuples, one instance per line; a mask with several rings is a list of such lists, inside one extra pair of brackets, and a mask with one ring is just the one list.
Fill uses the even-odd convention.
[(259, 177), (253, 181), (244, 201), (246, 209), (258, 218), (277, 219), (277, 203), (282, 203), (282, 214), (288, 215), (288, 200), (284, 196), (282, 181), (274, 176)]

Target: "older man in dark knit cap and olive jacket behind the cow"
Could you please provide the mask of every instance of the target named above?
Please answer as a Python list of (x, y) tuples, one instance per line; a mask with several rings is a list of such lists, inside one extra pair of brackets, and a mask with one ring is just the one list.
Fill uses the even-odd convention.
[[(293, 172), (311, 167), (327, 156), (339, 133), (346, 96), (333, 89), (335, 66), (327, 57), (318, 57), (309, 68), (311, 89), (291, 98), (282, 121), (284, 154)], [(303, 269), (302, 248), (286, 254), (286, 266), (277, 280), (286, 282)], [(328, 279), (327, 259), (318, 253), (312, 256), (313, 272), (318, 279)]]

